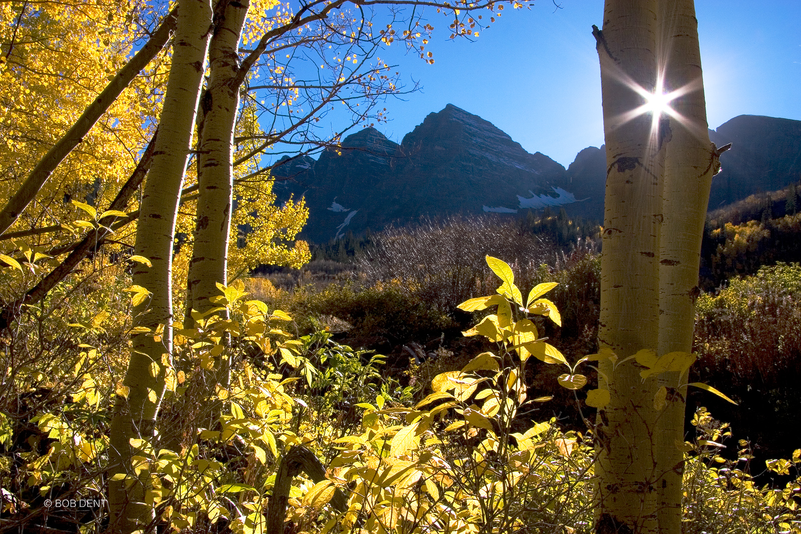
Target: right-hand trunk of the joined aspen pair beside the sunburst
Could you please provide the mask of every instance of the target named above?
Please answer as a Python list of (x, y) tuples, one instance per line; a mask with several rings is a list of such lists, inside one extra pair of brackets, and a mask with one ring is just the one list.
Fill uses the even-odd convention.
[[(665, 179), (662, 199), (662, 235), (659, 262), (658, 355), (690, 352), (693, 342), (695, 299), (701, 239), (706, 220), (712, 177), (718, 155), (709, 141), (706, 125), (698, 21), (693, 0), (661, 0), (660, 18), (664, 50), (662, 65), (666, 92), (686, 87), (671, 102), (680, 118), (670, 117), (666, 141)], [(683, 452), (687, 372), (665, 372), (659, 385), (667, 388), (667, 404), (658, 420), (659, 532), (682, 532)]]

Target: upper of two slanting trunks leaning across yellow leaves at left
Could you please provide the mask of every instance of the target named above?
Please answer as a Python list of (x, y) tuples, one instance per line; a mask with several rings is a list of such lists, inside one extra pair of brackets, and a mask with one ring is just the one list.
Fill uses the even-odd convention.
[(42, 156), (33, 171), (22, 183), (14, 196), (0, 210), (0, 235), (8, 230), (22, 211), (25, 210), (30, 201), (34, 199), (42, 186), (50, 178), (50, 174), (64, 161), (67, 155), (83, 141), (83, 136), (89, 133), (95, 122), (108, 110), (109, 106), (119, 97), (119, 94), (131, 83), (151, 59), (155, 58), (161, 49), (167, 44), (172, 30), (175, 28), (175, 10), (172, 10), (167, 18), (159, 26), (158, 30), (145, 43), (145, 45), (131, 58), (125, 66), (111, 79), (103, 92), (95, 98), (83, 114), (75, 121), (74, 125), (58, 139), (47, 154)]

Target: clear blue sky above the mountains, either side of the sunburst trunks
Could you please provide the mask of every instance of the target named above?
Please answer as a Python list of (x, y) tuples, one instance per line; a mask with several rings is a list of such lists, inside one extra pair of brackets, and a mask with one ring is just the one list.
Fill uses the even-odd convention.
[[(531, 10), (504, 10), (476, 42), (448, 41), (448, 22), (427, 50), (434, 65), (393, 45), (407, 85), (421, 91), (390, 98), (387, 124), (400, 143), (425, 115), (453, 103), (480, 115), (529, 152), (569, 165), (584, 147), (603, 143), (598, 55), (591, 34), (602, 26), (602, 0), (537, 0)], [(696, 0), (710, 127), (739, 114), (801, 119), (801, 0)]]

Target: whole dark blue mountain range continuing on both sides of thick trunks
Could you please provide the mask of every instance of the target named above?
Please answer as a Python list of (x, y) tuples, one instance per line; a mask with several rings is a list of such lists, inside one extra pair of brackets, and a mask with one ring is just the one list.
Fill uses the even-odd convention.
[[(710, 130), (710, 138), (718, 147), (734, 143), (721, 158), (710, 208), (799, 177), (801, 121), (741, 115)], [(583, 149), (565, 169), (452, 104), (429, 114), (400, 145), (364, 128), (316, 161), (285, 161), (273, 171), (276, 195), (280, 201), (305, 195), (309, 220), (301, 238), (314, 243), (421, 215), (515, 214), (552, 206), (603, 219), (604, 147)]]

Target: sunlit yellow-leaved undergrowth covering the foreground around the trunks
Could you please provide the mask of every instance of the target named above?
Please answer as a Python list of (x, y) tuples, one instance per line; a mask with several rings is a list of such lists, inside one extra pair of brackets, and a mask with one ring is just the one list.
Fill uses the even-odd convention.
[[(582, 356), (606, 356), (578, 347), (563, 355), (557, 346), (567, 336), (542, 336), (558, 331), (559, 323), (566, 327), (591, 314), (569, 311), (570, 306), (560, 312), (554, 303), (591, 295), (591, 284), (586, 294), (570, 287), (555, 293), (597, 273), (597, 256), (582, 254), (566, 258), (564, 270), (541, 267), (541, 278), (562, 283), (538, 283), (527, 302), (521, 299), (528, 293), (517, 291), (517, 279), (510, 278), (513, 271), (490, 258), (506, 280), (506, 297), (473, 298), (460, 306), (479, 317), (498, 307), (480, 321), (468, 319), (479, 322), (465, 327), (465, 335), (483, 339), (480, 353), (461, 363), (451, 359), (450, 367), (436, 374), (425, 369), (437, 362), (387, 373), (384, 356), (335, 341), (350, 327), (344, 319), (318, 315), (307, 323), (307, 334), (295, 333), (284, 311), (251, 300), (238, 284), (223, 288), (217, 303), (231, 319), (211, 316), (195, 331), (176, 336), (182, 355), (177, 361), (183, 363), (169, 367), (169, 391), (159, 416), (165, 432), (155, 443), (140, 444), (136, 461), (151, 476), (148, 498), (159, 511), (159, 528), (275, 532), (270, 526), (277, 517), (284, 532), (589, 534), (592, 423), (566, 431), (536, 409), (556, 402), (540, 387), (551, 394), (576, 391), (573, 402), (586, 415), (590, 405), (603, 402)], [(481, 272), (490, 283), (492, 272)], [(787, 273), (779, 278), (792, 279)], [(126, 394), (119, 386), (120, 335), (127, 329), (128, 306), (123, 288), (111, 278), (92, 287), (64, 287), (63, 302), (70, 296), (69, 302), (87, 303), (74, 297), (88, 294), (91, 305), (65, 304), (57, 313), (31, 318), (4, 339), (13, 348), (4, 353), (9, 372), (0, 391), (4, 527), (103, 530), (102, 506), (56, 511), (45, 501), (103, 498), (108, 421), (115, 395)], [(288, 298), (285, 290), (266, 283), (260, 288), (268, 299)], [(345, 290), (328, 291), (318, 299), (334, 301)], [(409, 298), (391, 284), (348, 291), (366, 292), (361, 298), (374, 299), (376, 313), (388, 299)], [(342, 304), (354, 305), (353, 298)], [(429, 313), (434, 315), (414, 320), (454, 320)], [(505, 322), (507, 316), (511, 322)], [(403, 321), (400, 315), (396, 319)], [(235, 379), (229, 389), (200, 399), (195, 377), (225, 335), (231, 336), (227, 350), (234, 356)], [(443, 359), (446, 352), (440, 351)], [(541, 371), (528, 368), (543, 367), (554, 369), (550, 383), (529, 384), (529, 377)], [(410, 380), (415, 374), (421, 379)], [(225, 408), (215, 418), (217, 405)], [(695, 439), (686, 444), (684, 532), (767, 534), (799, 528), (797, 481), (787, 488), (756, 484), (749, 474), (750, 445), (727, 441), (727, 425), (708, 412), (699, 409), (692, 428)], [(735, 460), (720, 454), (716, 444), (721, 441), (739, 449)], [(795, 472), (798, 454), (769, 468), (777, 475)], [(286, 471), (290, 461), (300, 471)]]

